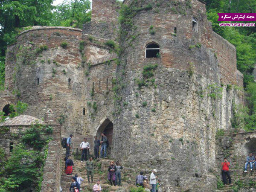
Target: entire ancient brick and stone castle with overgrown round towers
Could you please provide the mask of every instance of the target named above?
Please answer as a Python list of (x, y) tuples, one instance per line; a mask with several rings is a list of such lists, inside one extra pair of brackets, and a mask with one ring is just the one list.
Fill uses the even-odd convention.
[[(52, 117), (55, 149), (69, 134), (75, 140), (105, 131), (110, 157), (134, 174), (157, 169), (162, 191), (213, 191), (216, 131), (231, 128), (233, 105), (244, 99), (236, 48), (212, 31), (203, 0), (122, 3), (92, 0), (83, 29), (21, 32), (6, 52), (1, 110), (19, 100), (29, 106), (26, 115), (47, 114), (44, 123)], [(58, 191), (56, 170), (51, 189)]]

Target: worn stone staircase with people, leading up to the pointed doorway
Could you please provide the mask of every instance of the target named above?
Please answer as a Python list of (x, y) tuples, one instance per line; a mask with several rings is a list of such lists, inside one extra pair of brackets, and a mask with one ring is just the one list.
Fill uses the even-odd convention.
[[(104, 158), (104, 159), (98, 159), (93, 160), (94, 165), (94, 172), (93, 172), (93, 183), (88, 183), (87, 180), (87, 171), (86, 171), (86, 162), (81, 162), (80, 160), (74, 160), (74, 156), (72, 155), (70, 159), (73, 160), (74, 166), (73, 166), (73, 175), (66, 175), (64, 173), (64, 151), (62, 152), (62, 161), (61, 161), (61, 188), (62, 192), (69, 192), (70, 184), (71, 184), (71, 178), (77, 174), (79, 177), (82, 177), (84, 181), (81, 182), (81, 190), (80, 192), (91, 192), (93, 189), (93, 185), (96, 183), (97, 179), (101, 180), (101, 186), (102, 189), (104, 189), (105, 192), (128, 192), (129, 188), (135, 187), (135, 185), (131, 185), (126, 183), (122, 176), (122, 185), (121, 186), (111, 186), (108, 181), (108, 166), (111, 159)], [(90, 179), (91, 182), (91, 179)]]

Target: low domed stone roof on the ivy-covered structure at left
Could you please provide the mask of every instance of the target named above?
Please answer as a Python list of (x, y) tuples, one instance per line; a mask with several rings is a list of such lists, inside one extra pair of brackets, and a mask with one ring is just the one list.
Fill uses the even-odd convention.
[(30, 115), (20, 115), (20, 116), (16, 116), (12, 119), (8, 119), (5, 122), (2, 122), (0, 124), (0, 127), (3, 126), (20, 126), (20, 125), (31, 125), (35, 122), (38, 122), (40, 124), (45, 124), (44, 121), (35, 118), (34, 116), (30, 116)]

